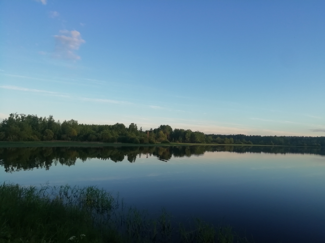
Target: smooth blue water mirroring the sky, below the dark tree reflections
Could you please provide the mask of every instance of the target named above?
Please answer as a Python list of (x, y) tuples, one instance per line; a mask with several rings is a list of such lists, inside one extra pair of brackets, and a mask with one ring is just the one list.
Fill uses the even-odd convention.
[[(137, 156), (77, 160), (12, 174), (1, 181), (24, 185), (98, 185), (120, 193), (129, 205), (157, 212), (162, 206), (176, 219), (199, 216), (253, 234), (256, 242), (325, 241), (325, 157), (301, 154), (205, 152), (204, 156)], [(262, 240), (263, 239), (263, 240)]]

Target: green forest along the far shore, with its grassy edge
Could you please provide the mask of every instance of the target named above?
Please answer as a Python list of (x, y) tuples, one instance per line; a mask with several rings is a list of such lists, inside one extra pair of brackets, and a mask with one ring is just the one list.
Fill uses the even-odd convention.
[(79, 124), (76, 120), (55, 121), (53, 116), (38, 117), (11, 113), (0, 123), (0, 141), (88, 141), (104, 143), (193, 143), (193, 144), (241, 144), (241, 145), (286, 145), (325, 146), (325, 136), (259, 136), (205, 134), (189, 129), (173, 129), (169, 125), (158, 128), (138, 129), (135, 123), (128, 127), (122, 123), (114, 125)]

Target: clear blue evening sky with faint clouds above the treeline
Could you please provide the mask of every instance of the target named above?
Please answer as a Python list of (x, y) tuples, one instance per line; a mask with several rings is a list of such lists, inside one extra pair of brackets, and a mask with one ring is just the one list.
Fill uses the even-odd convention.
[(0, 119), (325, 135), (324, 1), (0, 1)]

